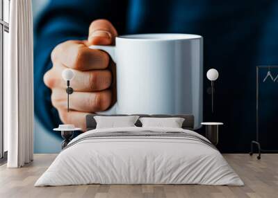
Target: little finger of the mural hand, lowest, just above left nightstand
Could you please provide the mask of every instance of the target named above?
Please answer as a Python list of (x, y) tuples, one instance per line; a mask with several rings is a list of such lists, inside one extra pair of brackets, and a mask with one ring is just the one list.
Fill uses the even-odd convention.
[(79, 111), (69, 111), (58, 109), (60, 120), (67, 125), (74, 125), (76, 128), (81, 128), (85, 132), (85, 117), (88, 113)]

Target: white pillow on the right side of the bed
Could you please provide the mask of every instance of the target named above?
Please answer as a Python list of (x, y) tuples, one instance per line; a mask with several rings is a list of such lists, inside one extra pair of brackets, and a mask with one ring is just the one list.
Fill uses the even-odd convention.
[(139, 118), (142, 127), (181, 128), (184, 118)]

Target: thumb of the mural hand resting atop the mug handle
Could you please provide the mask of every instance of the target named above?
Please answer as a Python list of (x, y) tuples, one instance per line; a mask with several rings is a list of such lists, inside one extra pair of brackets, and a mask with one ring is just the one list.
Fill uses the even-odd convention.
[(88, 44), (89, 45), (111, 45), (115, 44), (117, 30), (106, 19), (92, 21), (89, 28)]

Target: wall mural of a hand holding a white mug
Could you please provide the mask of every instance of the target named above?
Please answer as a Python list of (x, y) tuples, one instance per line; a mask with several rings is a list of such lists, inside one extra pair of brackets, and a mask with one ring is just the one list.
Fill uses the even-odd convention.
[[(256, 136), (256, 65), (278, 62), (271, 28), (277, 6), (67, 0), (41, 9), (34, 3), (42, 10), (34, 15), (35, 152), (58, 152), (60, 133), (53, 129), (85, 129), (92, 113), (193, 114), (201, 134), (202, 122), (224, 123), (221, 152), (249, 152)], [(254, 11), (262, 7), (267, 12)], [(68, 95), (65, 69), (74, 72)], [(209, 69), (219, 72), (217, 81), (206, 76)]]

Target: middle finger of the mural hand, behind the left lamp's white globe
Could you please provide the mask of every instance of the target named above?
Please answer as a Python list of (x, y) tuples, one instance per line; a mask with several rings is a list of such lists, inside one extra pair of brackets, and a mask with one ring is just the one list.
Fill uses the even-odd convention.
[[(66, 69), (62, 64), (55, 64), (52, 69), (44, 75), (44, 84), (50, 89), (66, 88), (66, 82), (61, 78), (60, 73)], [(70, 81), (70, 87), (74, 91), (101, 91), (111, 86), (112, 74), (109, 70), (77, 71), (75, 77)]]

